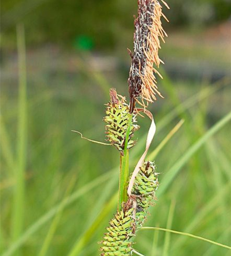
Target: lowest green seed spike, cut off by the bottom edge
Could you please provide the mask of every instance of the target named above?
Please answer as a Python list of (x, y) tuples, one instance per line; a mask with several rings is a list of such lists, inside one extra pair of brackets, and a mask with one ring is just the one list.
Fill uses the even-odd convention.
[(101, 256), (130, 256), (132, 255), (131, 241), (133, 234), (134, 218), (133, 208), (122, 210), (109, 222), (104, 240), (100, 243)]

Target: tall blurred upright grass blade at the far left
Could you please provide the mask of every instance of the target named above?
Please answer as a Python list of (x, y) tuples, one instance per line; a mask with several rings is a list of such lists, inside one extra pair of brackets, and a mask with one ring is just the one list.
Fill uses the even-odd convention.
[[(20, 237), (25, 216), (25, 172), (27, 156), (27, 72), (24, 25), (17, 26), (17, 49), (19, 69), (17, 160), (15, 166), (12, 239)], [(18, 254), (19, 255), (19, 254)]]

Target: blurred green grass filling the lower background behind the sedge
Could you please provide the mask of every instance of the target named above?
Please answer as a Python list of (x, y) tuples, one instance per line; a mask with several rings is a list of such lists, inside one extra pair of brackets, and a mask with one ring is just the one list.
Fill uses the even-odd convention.
[[(14, 191), (19, 182), (18, 174), (12, 170), (18, 160), (15, 142), (18, 100), (12, 84), (3, 84), (1, 88), (0, 235), (4, 256), (16, 255), (18, 248), (25, 256), (97, 255), (97, 242), (116, 209), (113, 195), (118, 189), (118, 152), (81, 140), (71, 133), (75, 129), (86, 137), (104, 140), (101, 120), (103, 103), (108, 101), (105, 90), (110, 83), (102, 74), (96, 76), (91, 70), (75, 79), (65, 74), (57, 76), (59, 83), (54, 85), (50, 84), (54, 80), (49, 77), (33, 82), (28, 80), (25, 138), (28, 143), (27, 151), (20, 151), (23, 153), (21, 157), (27, 160), (23, 179), (25, 199), (21, 204), (24, 223), (14, 241), (16, 237), (12, 236), (10, 227), (15, 208)], [(230, 103), (228, 82), (208, 85), (205, 82), (172, 82), (167, 74), (165, 77), (159, 83), (159, 88), (165, 91), (165, 99), (151, 107), (157, 134), (150, 156), (175, 124), (181, 118), (185, 121), (158, 156), (154, 155), (160, 172), (159, 197), (147, 225), (166, 227), (168, 223), (170, 227), (172, 222), (174, 230), (229, 244), (231, 141), (227, 136), (230, 131), (226, 116)], [(119, 73), (113, 75), (113, 86), (125, 94), (127, 84), (125, 80), (120, 84), (121, 80)], [(224, 116), (226, 119), (222, 119)], [(139, 118), (138, 121), (141, 129), (137, 132), (138, 144), (130, 153), (131, 170), (135, 159), (144, 150), (149, 125), (146, 119)], [(73, 181), (73, 177), (76, 180)], [(70, 187), (73, 191), (67, 196)], [(172, 200), (175, 202), (174, 215), (168, 215)], [(140, 231), (136, 242), (136, 249), (147, 256), (227, 253), (226, 249), (215, 245), (163, 232), (158, 233), (158, 243), (157, 238), (153, 243), (151, 232)]]

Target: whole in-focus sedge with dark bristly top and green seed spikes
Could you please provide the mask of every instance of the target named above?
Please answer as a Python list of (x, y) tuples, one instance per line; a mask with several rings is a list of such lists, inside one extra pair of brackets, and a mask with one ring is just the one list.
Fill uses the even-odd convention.
[[(168, 7), (164, 1), (162, 3)], [(120, 152), (120, 178), (118, 208), (100, 242), (101, 256), (133, 254), (135, 234), (143, 226), (158, 188), (156, 166), (154, 162), (146, 161), (145, 157), (155, 134), (154, 119), (147, 107), (157, 96), (163, 97), (156, 81), (156, 74), (161, 77), (157, 68), (163, 63), (158, 56), (160, 40), (164, 41), (167, 36), (161, 17), (166, 18), (157, 0), (138, 1), (138, 16), (134, 22), (134, 49), (128, 50), (131, 57), (128, 78), (130, 101), (127, 103), (124, 96), (118, 95), (116, 89), (111, 89), (110, 102), (106, 104), (106, 136), (108, 142)], [(134, 172), (129, 175), (129, 151), (136, 144), (133, 136), (140, 128), (136, 119), (141, 112), (151, 119), (152, 124), (146, 150)]]

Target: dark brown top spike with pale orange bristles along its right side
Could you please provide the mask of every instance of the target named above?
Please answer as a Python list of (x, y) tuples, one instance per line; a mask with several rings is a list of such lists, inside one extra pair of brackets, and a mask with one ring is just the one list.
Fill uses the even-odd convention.
[(162, 16), (166, 18), (157, 0), (138, 0), (138, 17), (134, 22), (134, 52), (130, 54), (132, 63), (128, 79), (131, 113), (138, 98), (141, 98), (141, 102), (137, 102), (145, 107), (144, 100), (148, 104), (156, 100), (157, 94), (163, 97), (158, 91), (154, 73), (161, 75), (153, 67), (153, 63), (157, 68), (160, 63), (164, 63), (158, 56), (159, 38), (165, 41), (164, 37), (167, 36), (161, 25)]

